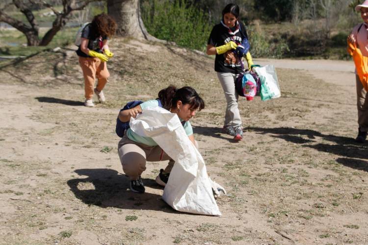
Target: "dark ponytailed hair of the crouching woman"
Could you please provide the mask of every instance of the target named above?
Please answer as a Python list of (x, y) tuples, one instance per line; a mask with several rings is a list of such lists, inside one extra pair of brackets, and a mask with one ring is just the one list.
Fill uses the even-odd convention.
[(190, 104), (191, 109), (198, 109), (199, 111), (205, 108), (205, 101), (192, 88), (185, 86), (177, 89), (175, 86), (160, 90), (158, 92), (158, 99), (161, 101), (162, 107), (170, 110), (180, 100), (183, 104)]

